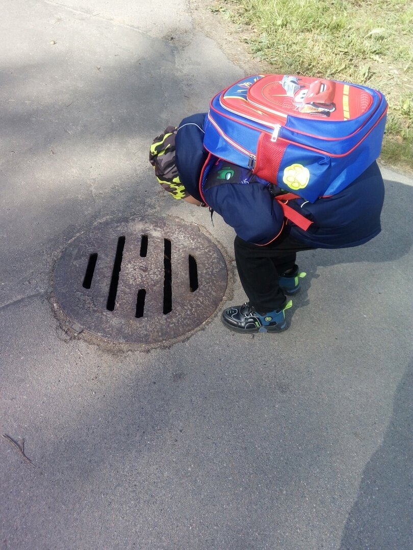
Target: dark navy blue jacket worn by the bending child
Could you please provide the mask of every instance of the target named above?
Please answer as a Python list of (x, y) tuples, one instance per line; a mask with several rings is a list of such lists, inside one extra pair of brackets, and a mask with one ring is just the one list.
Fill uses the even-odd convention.
[[(175, 142), (181, 182), (198, 200), (202, 199), (199, 176), (208, 156), (203, 147), (204, 119), (205, 113), (202, 113), (182, 120)], [(270, 185), (246, 169), (217, 160), (206, 179), (204, 197), (243, 240), (267, 244), (282, 228), (284, 213), (271, 196)], [(304, 231), (288, 222), (285, 230), (315, 248), (361, 245), (381, 231), (383, 201), (383, 179), (377, 163), (373, 162), (336, 195), (323, 197), (313, 204), (304, 199), (289, 201), (289, 206), (313, 223)]]

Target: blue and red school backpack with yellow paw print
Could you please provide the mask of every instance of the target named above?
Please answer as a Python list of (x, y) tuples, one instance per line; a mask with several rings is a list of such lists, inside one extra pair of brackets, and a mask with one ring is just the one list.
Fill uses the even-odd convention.
[[(297, 196), (315, 202), (335, 195), (379, 156), (387, 109), (383, 94), (366, 86), (291, 75), (243, 78), (210, 103), (210, 158), (200, 190), (219, 157), (287, 192), (279, 197), (283, 206)], [(289, 218), (289, 207), (284, 211)]]

